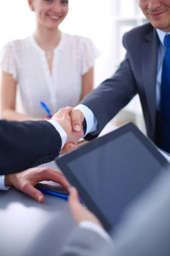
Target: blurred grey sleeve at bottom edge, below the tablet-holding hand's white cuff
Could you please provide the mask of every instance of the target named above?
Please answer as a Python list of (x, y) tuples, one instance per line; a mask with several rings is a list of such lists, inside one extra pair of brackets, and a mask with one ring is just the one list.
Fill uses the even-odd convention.
[(59, 256), (110, 256), (111, 251), (113, 245), (99, 234), (77, 227), (64, 244)]

